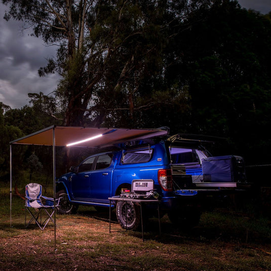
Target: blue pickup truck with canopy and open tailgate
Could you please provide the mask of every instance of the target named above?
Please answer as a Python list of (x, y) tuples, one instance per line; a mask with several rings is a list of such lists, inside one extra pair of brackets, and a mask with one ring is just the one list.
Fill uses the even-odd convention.
[[(246, 183), (241, 157), (211, 157), (199, 142), (175, 135), (125, 142), (117, 151), (94, 154), (57, 180), (58, 212), (70, 214), (79, 205), (97, 210), (109, 207), (108, 198), (130, 191), (133, 180), (153, 180), (162, 213), (173, 223), (196, 225), (206, 195), (234, 191)], [(116, 207), (121, 226), (136, 229), (140, 224), (137, 204), (118, 202)], [(156, 213), (152, 209), (147, 207), (148, 216)]]

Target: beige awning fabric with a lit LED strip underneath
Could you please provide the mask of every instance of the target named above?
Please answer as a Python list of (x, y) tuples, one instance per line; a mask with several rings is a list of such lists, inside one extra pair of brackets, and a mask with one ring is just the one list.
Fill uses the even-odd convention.
[[(10, 144), (67, 146), (75, 144), (79, 147), (102, 147), (130, 140), (147, 139), (167, 135), (162, 129), (123, 129), (97, 127), (51, 126), (25, 137), (11, 141)], [(90, 139), (96, 137), (94, 139)], [(88, 141), (84, 141), (90, 139)], [(54, 144), (55, 141), (55, 144)]]

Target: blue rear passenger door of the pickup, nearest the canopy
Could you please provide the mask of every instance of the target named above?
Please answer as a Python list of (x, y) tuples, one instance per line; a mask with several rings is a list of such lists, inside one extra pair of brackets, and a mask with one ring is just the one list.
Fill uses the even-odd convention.
[(110, 197), (112, 153), (101, 154), (96, 160), (90, 179), (90, 198), (93, 202), (106, 203)]

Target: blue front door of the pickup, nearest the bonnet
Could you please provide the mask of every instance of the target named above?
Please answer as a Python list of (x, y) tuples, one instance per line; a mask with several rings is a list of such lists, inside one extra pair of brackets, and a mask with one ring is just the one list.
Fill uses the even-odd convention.
[(85, 160), (79, 167), (78, 173), (73, 174), (71, 181), (71, 192), (75, 200), (88, 201), (90, 198), (90, 176), (95, 157)]

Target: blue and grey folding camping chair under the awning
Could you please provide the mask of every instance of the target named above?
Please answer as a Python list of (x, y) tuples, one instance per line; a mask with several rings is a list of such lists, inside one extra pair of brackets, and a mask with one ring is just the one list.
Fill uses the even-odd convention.
[[(45, 204), (42, 203), (45, 200)], [(55, 206), (59, 205), (59, 200), (56, 200)], [(26, 210), (29, 212), (31, 218), (26, 224)], [(42, 221), (42, 212), (44, 210), (45, 220)], [(28, 227), (32, 221), (44, 230), (47, 223), (51, 220), (55, 224), (53, 214), (55, 212), (54, 199), (42, 196), (42, 185), (38, 183), (29, 183), (25, 186), (25, 227)], [(40, 221), (38, 217), (40, 216)], [(56, 224), (55, 224), (56, 225)]]

